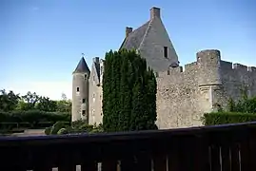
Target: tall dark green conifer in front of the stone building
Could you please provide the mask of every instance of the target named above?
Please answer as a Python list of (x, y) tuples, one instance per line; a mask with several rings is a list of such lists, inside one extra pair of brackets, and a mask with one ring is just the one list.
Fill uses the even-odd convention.
[(135, 50), (122, 49), (106, 54), (103, 114), (106, 131), (156, 128), (155, 76)]

